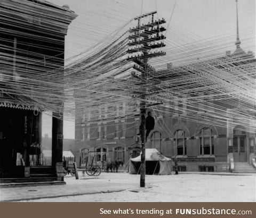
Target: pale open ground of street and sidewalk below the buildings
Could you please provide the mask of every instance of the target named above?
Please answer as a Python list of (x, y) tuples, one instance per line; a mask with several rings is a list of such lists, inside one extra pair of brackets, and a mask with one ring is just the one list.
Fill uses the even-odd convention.
[(146, 188), (140, 188), (140, 175), (102, 172), (93, 177), (79, 172), (79, 180), (67, 175), (65, 182), (66, 185), (1, 188), (0, 201), (255, 202), (255, 174), (179, 172), (179, 175), (146, 175)]

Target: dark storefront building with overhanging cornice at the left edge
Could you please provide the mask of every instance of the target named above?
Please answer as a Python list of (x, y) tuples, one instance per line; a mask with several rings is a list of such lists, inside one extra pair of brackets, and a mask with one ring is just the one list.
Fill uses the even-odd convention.
[[(61, 181), (63, 89), (45, 84), (63, 82), (65, 35), (76, 14), (29, 0), (3, 0), (0, 10), (0, 182)], [(51, 166), (42, 152), (44, 111), (52, 114)]]

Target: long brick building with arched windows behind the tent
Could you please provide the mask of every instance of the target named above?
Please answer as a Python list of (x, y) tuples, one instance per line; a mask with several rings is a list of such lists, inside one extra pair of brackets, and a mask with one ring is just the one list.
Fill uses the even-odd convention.
[[(164, 72), (157, 72), (158, 75), (165, 75), (158, 79), (163, 80), (162, 87), (167, 89), (170, 85), (166, 85), (166, 77), (172, 80), (180, 75), (192, 76), (193, 72), (189, 69), (195, 64), (197, 67), (198, 64), (211, 67), (214, 74), (214, 69), (217, 71), (221, 68), (220, 63), (229, 63), (230, 68), (225, 69), (227, 71), (235, 68), (255, 70), (252, 53), (245, 53), (237, 47), (233, 54), (227, 53), (220, 58), (178, 68), (171, 68), (169, 64)], [(191, 86), (198, 87), (196, 82)], [(195, 96), (197, 94), (191, 94), (190, 97)], [(236, 102), (235, 106), (205, 94), (201, 101), (184, 101), (181, 98), (170, 105), (164, 103), (148, 108), (153, 113), (156, 125), (149, 134), (146, 148), (156, 148), (166, 157), (177, 157), (180, 171), (228, 172), (230, 160), (235, 163), (251, 163), (255, 159), (255, 105), (245, 102), (237, 104), (237, 99), (227, 99)], [(81, 111), (78, 105), (76, 108)], [(107, 116), (99, 115), (98, 120), (90, 122), (86, 108), (83, 108), (84, 114), (76, 114), (76, 144), (73, 153), (77, 164), (85, 164), (87, 156), (94, 152), (96, 161), (105, 162), (109, 158), (124, 164), (129, 162), (130, 157), (140, 154), (140, 141), (136, 137), (140, 125), (139, 105), (137, 112), (130, 116), (125, 115), (123, 108), (125, 103), (116, 105), (116, 118), (111, 121)], [(218, 116), (220, 108), (221, 113), (225, 113), (221, 117)], [(104, 110), (109, 109), (104, 109), (102, 105)], [(241, 122), (243, 118), (249, 123)]]

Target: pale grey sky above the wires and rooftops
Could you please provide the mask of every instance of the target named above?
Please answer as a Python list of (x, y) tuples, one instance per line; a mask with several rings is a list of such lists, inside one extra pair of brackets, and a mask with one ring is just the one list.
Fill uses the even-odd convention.
[[(165, 18), (169, 34), (179, 26), (197, 39), (229, 35), (231, 37), (229, 43), (234, 44), (235, 49), (235, 0), (48, 0), (48, 2), (59, 6), (68, 4), (70, 10), (78, 15), (70, 24), (65, 39), (66, 62), (86, 52), (135, 16), (156, 10), (158, 18)], [(255, 0), (238, 0), (238, 19), (243, 48), (243, 37), (246, 37), (248, 32), (253, 32), (255, 36)], [(255, 47), (251, 50), (254, 52)], [(44, 134), (51, 136), (51, 118), (46, 115), (43, 116)], [(74, 121), (64, 120), (63, 135), (64, 138), (74, 138)]]

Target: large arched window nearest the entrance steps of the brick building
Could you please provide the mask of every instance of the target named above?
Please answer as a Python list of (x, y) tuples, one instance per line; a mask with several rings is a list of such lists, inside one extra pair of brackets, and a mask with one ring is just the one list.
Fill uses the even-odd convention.
[(201, 130), (200, 140), (200, 155), (212, 155), (214, 154), (213, 135), (210, 128), (204, 128)]

